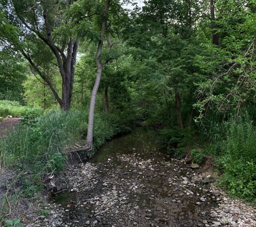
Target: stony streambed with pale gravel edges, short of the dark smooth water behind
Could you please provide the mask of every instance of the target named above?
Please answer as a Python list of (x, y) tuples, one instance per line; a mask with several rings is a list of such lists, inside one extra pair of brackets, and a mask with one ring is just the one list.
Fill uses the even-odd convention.
[(229, 198), (203, 167), (124, 148), (105, 151), (101, 162), (68, 166), (60, 192), (45, 205), (49, 216), (27, 227), (256, 225), (255, 207)]

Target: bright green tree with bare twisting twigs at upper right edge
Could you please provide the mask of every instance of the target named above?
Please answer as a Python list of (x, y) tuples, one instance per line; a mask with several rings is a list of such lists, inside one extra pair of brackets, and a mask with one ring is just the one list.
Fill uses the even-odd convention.
[[(221, 45), (203, 45), (205, 54), (198, 58), (202, 80), (198, 83), (196, 107), (200, 117), (207, 109), (223, 114), (238, 113), (247, 103), (255, 102), (255, 12), (254, 1), (218, 1), (224, 9), (218, 21)], [(243, 4), (242, 4), (243, 3)]]

